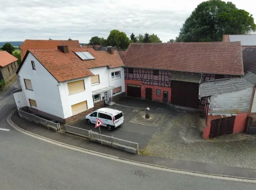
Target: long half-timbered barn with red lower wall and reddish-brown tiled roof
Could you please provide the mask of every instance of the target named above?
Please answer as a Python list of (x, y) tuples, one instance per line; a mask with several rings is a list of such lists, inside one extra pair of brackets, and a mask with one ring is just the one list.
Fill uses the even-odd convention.
[(128, 96), (196, 109), (199, 83), (243, 76), (240, 42), (131, 43), (122, 59)]

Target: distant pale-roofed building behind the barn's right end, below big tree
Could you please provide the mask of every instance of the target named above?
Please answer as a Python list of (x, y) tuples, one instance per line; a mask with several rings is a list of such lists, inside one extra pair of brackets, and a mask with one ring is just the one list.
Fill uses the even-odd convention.
[(241, 42), (242, 49), (256, 47), (256, 34), (223, 35), (222, 42)]

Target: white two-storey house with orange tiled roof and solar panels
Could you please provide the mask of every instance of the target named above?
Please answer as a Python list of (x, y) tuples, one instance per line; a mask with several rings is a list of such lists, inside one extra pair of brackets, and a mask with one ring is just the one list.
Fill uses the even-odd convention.
[(17, 107), (59, 122), (77, 120), (124, 95), (123, 66), (111, 49), (28, 50), (17, 70), (27, 106)]

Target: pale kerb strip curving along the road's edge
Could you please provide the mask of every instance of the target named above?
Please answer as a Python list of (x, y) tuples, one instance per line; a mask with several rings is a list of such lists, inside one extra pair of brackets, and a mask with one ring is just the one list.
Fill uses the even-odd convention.
[[(14, 129), (16, 129), (17, 131), (19, 131), (19, 132), (21, 132), (25, 135), (34, 137), (34, 138), (39, 139), (39, 140), (43, 140), (47, 143), (55, 144), (56, 146), (68, 148), (70, 150), (75, 150), (75, 151), (83, 152), (83, 153), (90, 154), (90, 155), (94, 155), (96, 157), (110, 159), (112, 161), (127, 163), (129, 165), (134, 165), (134, 166), (139, 166), (139, 167), (146, 167), (146, 168), (149, 168), (149, 169), (162, 170), (162, 171), (165, 171), (165, 172), (172, 172), (172, 173), (179, 173), (179, 174), (186, 174), (186, 175), (195, 176), (195, 177), (215, 178), (216, 180), (218, 179), (218, 180), (228, 180), (228, 181), (251, 182), (251, 183), (256, 184), (255, 179), (224, 176), (224, 175), (221, 176), (221, 175), (206, 174), (206, 173), (198, 173), (198, 172), (191, 172), (191, 171), (185, 171), (185, 170), (179, 170), (179, 169), (172, 169), (172, 168), (168, 168), (168, 167), (165, 167), (165, 166), (151, 165), (151, 164), (148, 164), (148, 163), (136, 162), (136, 161), (126, 160), (126, 159), (123, 159), (123, 158), (121, 159), (119, 157), (115, 157), (115, 156), (112, 156), (112, 155), (109, 155), (109, 154), (103, 154), (101, 152), (91, 151), (91, 150), (87, 150), (87, 149), (84, 149), (84, 148), (75, 147), (75, 146), (72, 146), (70, 144), (61, 143), (60, 141), (51, 140), (51, 139), (48, 139), (46, 137), (36, 135), (35, 133), (25, 131), (24, 129), (22, 129), (19, 126), (17, 126), (16, 124), (14, 124), (14, 122), (11, 120), (11, 117), (12, 117), (14, 111), (15, 110), (13, 110), (12, 113), (10, 113), (10, 115), (6, 119), (6, 121), (8, 122), (8, 124), (10, 126), (12, 126)], [(198, 174), (198, 175), (196, 175), (196, 174)]]

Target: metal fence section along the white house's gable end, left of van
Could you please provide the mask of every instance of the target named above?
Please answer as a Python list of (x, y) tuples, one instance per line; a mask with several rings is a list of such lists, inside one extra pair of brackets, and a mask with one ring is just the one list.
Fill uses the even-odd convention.
[(40, 118), (38, 116), (35, 116), (33, 114), (27, 113), (25, 111), (22, 110), (18, 110), (18, 114), (20, 115), (20, 117), (35, 122), (36, 124), (40, 124), (46, 127), (50, 127), (51, 129), (54, 129), (54, 131), (61, 131), (61, 126), (60, 123), (55, 123), (49, 120), (45, 120), (43, 118)]

